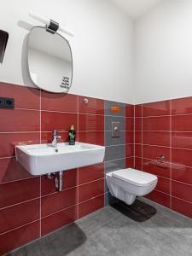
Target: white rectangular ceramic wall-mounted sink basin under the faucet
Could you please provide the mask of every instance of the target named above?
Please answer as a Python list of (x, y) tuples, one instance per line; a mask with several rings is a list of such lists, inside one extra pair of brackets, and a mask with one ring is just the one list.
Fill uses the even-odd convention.
[(33, 176), (101, 163), (104, 154), (105, 147), (87, 143), (16, 146), (16, 159)]

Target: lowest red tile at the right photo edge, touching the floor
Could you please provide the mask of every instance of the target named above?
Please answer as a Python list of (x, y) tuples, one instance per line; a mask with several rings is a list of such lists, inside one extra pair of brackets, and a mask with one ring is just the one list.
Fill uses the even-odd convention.
[(172, 197), (172, 210), (192, 218), (192, 205), (187, 201)]

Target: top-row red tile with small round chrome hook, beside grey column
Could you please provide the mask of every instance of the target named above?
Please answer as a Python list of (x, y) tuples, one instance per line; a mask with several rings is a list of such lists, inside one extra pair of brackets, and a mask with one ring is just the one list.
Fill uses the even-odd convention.
[[(88, 103), (84, 102), (88, 99)], [(104, 101), (96, 98), (79, 96), (79, 113), (104, 114)]]

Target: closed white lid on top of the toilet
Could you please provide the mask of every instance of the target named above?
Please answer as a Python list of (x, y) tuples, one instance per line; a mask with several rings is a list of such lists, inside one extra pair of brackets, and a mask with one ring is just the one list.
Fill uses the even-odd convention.
[(154, 176), (153, 174), (138, 171), (131, 168), (112, 172), (112, 176), (140, 187), (150, 185), (157, 180), (157, 177)]

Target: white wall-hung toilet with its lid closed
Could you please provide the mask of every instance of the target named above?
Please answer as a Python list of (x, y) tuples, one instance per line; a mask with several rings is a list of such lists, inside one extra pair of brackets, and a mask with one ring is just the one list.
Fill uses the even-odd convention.
[(127, 168), (106, 174), (108, 189), (114, 197), (131, 205), (137, 196), (150, 193), (158, 178), (153, 174)]

